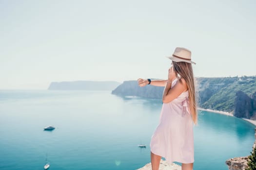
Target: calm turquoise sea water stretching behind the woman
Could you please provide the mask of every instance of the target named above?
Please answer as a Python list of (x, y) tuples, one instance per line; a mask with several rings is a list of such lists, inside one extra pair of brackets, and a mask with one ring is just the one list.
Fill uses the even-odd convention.
[[(136, 170), (150, 162), (160, 109), (111, 91), (0, 90), (0, 170), (43, 170), (46, 157), (50, 170)], [(228, 170), (227, 159), (251, 154), (253, 124), (206, 111), (198, 120), (194, 170)]]

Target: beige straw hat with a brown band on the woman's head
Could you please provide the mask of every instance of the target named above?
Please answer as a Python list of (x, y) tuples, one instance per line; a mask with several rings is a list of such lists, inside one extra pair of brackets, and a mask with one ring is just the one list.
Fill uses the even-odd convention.
[(167, 58), (175, 62), (184, 61), (187, 63), (196, 64), (195, 62), (191, 61), (191, 51), (183, 47), (177, 47), (173, 55), (167, 56)]

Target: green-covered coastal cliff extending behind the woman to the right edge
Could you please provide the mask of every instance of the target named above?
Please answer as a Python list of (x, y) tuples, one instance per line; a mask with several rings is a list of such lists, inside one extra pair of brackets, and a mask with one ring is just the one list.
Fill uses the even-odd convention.
[[(256, 120), (256, 76), (196, 77), (195, 85), (199, 107), (231, 113), (236, 111), (235, 116), (239, 118)], [(125, 81), (112, 94), (161, 98), (163, 89), (152, 85), (140, 87), (137, 81)]]

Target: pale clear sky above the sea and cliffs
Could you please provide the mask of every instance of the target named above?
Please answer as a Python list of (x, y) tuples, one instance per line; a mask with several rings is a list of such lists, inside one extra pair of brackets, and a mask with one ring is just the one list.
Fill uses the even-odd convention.
[(0, 89), (167, 79), (176, 47), (195, 77), (256, 75), (255, 0), (0, 0)]

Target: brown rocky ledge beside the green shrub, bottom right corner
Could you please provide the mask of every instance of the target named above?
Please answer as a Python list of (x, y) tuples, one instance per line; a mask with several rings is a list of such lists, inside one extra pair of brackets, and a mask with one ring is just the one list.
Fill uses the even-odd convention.
[[(256, 128), (255, 128), (255, 138), (256, 138)], [(253, 145), (253, 150), (256, 147), (256, 140)], [(249, 155), (248, 155), (249, 156)], [(226, 164), (228, 165), (229, 170), (245, 170), (248, 168), (247, 161), (248, 156), (243, 157), (234, 157), (226, 160)]]

